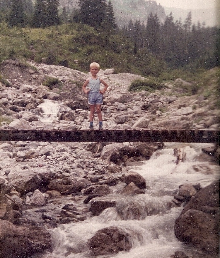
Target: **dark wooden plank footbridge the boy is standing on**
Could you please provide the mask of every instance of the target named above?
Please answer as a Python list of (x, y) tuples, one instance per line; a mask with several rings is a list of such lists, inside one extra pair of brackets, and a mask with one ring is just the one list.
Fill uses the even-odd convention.
[(219, 130), (0, 130), (0, 141), (219, 143)]

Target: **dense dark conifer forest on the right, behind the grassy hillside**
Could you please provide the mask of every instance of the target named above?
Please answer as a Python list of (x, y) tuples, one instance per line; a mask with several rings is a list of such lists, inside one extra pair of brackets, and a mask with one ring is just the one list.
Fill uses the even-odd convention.
[(161, 25), (157, 15), (151, 13), (146, 26), (131, 20), (121, 32), (132, 39), (137, 49), (157, 54), (169, 67), (192, 70), (219, 65), (219, 28), (205, 28), (199, 21), (192, 25), (191, 13), (184, 23), (181, 19), (174, 22), (170, 13)]

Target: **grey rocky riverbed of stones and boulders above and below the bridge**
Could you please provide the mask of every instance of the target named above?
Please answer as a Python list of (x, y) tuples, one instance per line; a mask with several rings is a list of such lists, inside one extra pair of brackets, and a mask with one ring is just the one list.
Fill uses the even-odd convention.
[[(81, 85), (89, 74), (62, 66), (29, 65), (18, 60), (1, 64), (7, 81), (0, 83), (0, 128), (88, 129), (89, 110)], [(149, 94), (128, 92), (130, 83), (141, 76), (112, 74), (112, 69), (100, 70), (99, 75), (109, 84), (102, 106), (105, 129), (219, 129), (219, 110), (202, 95), (183, 96), (187, 82), (181, 79)], [(62, 87), (43, 86), (48, 76), (58, 78)], [(0, 256), (30, 257), (49, 250), (51, 229), (81, 223), (108, 208), (119, 207), (123, 198), (127, 203), (127, 196), (133, 200), (144, 194), (150, 186), (134, 167), (161, 149), (163, 143), (0, 142)], [(180, 158), (173, 156), (174, 162)], [(211, 169), (206, 164), (192, 169), (216, 173), (218, 158), (218, 150), (214, 156), (201, 153), (199, 159), (212, 164)], [(208, 189), (189, 183), (169, 192), (173, 199), (158, 210), (146, 211), (134, 202), (130, 209), (136, 212), (118, 208), (118, 216), (143, 220), (187, 204), (175, 224), (177, 238), (195, 244), (205, 252), (204, 257), (206, 253), (215, 257), (219, 185), (213, 182)], [(206, 219), (202, 219), (204, 215)], [(186, 225), (189, 218), (191, 223)], [(194, 235), (185, 233), (191, 232), (195, 223), (199, 226)], [(197, 232), (207, 232), (207, 228), (208, 240), (207, 235), (197, 237)], [(128, 251), (132, 248), (129, 237), (117, 227), (108, 227), (97, 231), (88, 246), (96, 256)], [(184, 257), (181, 252), (173, 255)]]

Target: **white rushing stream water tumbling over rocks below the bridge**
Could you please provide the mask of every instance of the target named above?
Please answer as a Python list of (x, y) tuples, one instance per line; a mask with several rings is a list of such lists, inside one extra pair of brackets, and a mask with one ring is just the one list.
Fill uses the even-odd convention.
[[(183, 207), (168, 209), (165, 204), (172, 200), (172, 195), (179, 185), (188, 182), (200, 183), (205, 187), (219, 177), (217, 165), (197, 160), (201, 154), (201, 146), (201, 144), (182, 144), (186, 158), (184, 162), (176, 165), (176, 158), (173, 155), (173, 148), (176, 146), (167, 143), (165, 149), (158, 150), (144, 165), (136, 167), (136, 171), (146, 179), (147, 190), (145, 194), (134, 198), (144, 206), (149, 216), (144, 214), (141, 220), (134, 220), (130, 219), (131, 214), (127, 214), (126, 220), (122, 220), (117, 214), (117, 208), (113, 207), (81, 223), (61, 225), (53, 229), (51, 254), (45, 254), (41, 258), (92, 257), (87, 246), (88, 239), (99, 229), (108, 226), (117, 226), (128, 232), (132, 236), (130, 239), (132, 249), (129, 252), (97, 256), (98, 258), (169, 258), (175, 251), (192, 255), (193, 247), (179, 242), (173, 230), (174, 222)], [(191, 169), (192, 165), (201, 164), (213, 173), (205, 174)], [(126, 212), (129, 213), (128, 211), (124, 213)]]

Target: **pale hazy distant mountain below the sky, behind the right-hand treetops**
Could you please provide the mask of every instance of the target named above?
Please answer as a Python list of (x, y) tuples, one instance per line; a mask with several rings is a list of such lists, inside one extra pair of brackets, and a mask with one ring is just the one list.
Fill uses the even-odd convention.
[(192, 23), (197, 24), (197, 21), (205, 22), (205, 27), (210, 26), (213, 27), (217, 24), (216, 19), (216, 10), (214, 8), (209, 9), (180, 9), (175, 7), (163, 7), (165, 10), (166, 15), (169, 15), (170, 12), (173, 14), (174, 21), (179, 20), (182, 18), (182, 21), (187, 17), (187, 14), (191, 11), (192, 14)]

